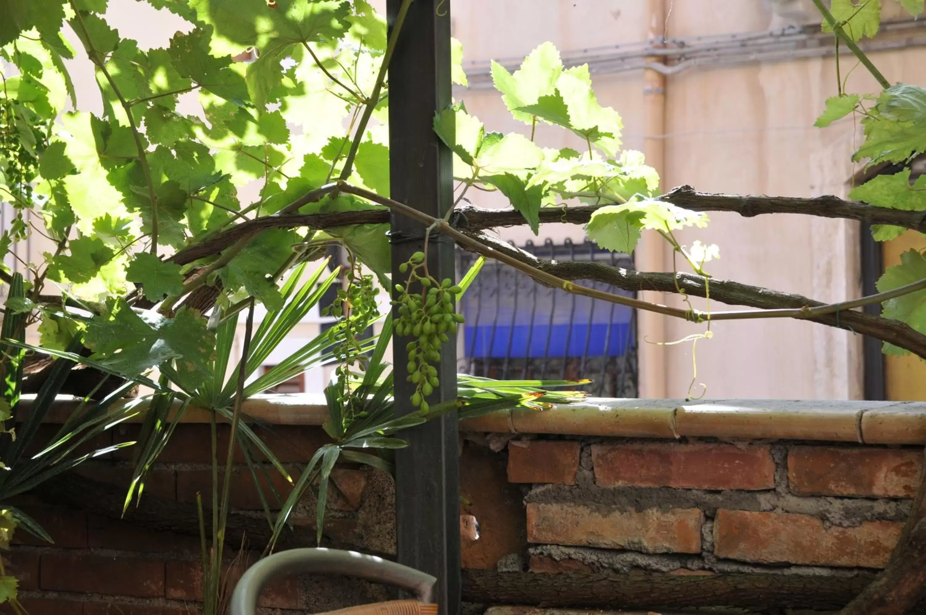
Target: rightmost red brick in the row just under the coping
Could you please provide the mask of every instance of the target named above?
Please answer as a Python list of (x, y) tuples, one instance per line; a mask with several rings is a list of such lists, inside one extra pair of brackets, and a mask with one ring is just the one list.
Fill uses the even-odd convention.
[(798, 496), (913, 497), (922, 450), (792, 446), (788, 483)]

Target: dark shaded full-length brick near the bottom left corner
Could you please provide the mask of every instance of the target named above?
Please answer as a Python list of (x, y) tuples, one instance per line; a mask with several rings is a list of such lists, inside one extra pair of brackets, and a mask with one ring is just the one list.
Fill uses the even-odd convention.
[(159, 559), (45, 553), (40, 579), (44, 590), (109, 596), (164, 596), (164, 562)]

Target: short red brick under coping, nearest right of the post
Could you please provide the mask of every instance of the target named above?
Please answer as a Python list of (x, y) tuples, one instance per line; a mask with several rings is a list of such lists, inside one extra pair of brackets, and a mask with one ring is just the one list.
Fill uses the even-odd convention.
[(528, 440), (508, 443), (510, 483), (575, 484), (579, 443), (569, 440)]

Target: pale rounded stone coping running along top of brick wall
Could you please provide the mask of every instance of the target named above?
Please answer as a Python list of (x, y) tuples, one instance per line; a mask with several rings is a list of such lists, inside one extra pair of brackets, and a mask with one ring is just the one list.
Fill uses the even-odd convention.
[[(30, 399), (21, 404), (28, 411)], [(78, 400), (62, 397), (46, 422), (63, 422)], [(144, 400), (122, 402), (139, 413)], [(323, 395), (255, 395), (244, 402), (250, 418), (277, 425), (321, 425), (328, 418)], [(183, 422), (208, 422), (188, 408)], [(558, 404), (544, 411), (514, 409), (464, 420), (469, 432), (557, 433), (639, 438), (820, 440), (877, 445), (926, 443), (926, 402), (814, 401), (788, 399), (606, 399)]]

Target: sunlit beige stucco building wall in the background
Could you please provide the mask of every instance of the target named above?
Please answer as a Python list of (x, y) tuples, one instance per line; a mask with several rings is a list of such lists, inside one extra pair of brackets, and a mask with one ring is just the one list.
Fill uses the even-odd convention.
[[(457, 3), (455, 35), (463, 42), (467, 61), (493, 55), (524, 56), (544, 40), (553, 41), (564, 52), (633, 44), (645, 39), (646, 5), (633, 0)], [(669, 37), (764, 31), (782, 25), (770, 3), (675, 0), (666, 6), (665, 31)], [(885, 5), (885, 17), (894, 17), (889, 11), (895, 8)], [(490, 24), (501, 23), (517, 23), (518, 27), (499, 36)], [(926, 81), (926, 50), (876, 53), (872, 59), (891, 82)], [(854, 64), (851, 57), (844, 56), (844, 79)], [(666, 130), (658, 135), (643, 132), (642, 69), (594, 74), (593, 79), (599, 101), (615, 107), (623, 117), (626, 147), (643, 149), (644, 137), (664, 141), (665, 163), (659, 169), (663, 190), (688, 183), (704, 192), (730, 194), (845, 195), (847, 181), (857, 170), (850, 160), (860, 143), (855, 119), (844, 119), (827, 129), (813, 127), (824, 100), (837, 92), (832, 58), (696, 67), (669, 75)], [(848, 92), (879, 89), (864, 69), (852, 71), (846, 85)], [(457, 95), (493, 130), (525, 130), (508, 118), (494, 91)], [(538, 131), (540, 144), (565, 144), (561, 132), (556, 136), (548, 132), (552, 131)], [(707, 229), (682, 232), (680, 239), (683, 244), (700, 239), (720, 245), (720, 260), (708, 267), (716, 278), (764, 285), (821, 301), (859, 295), (857, 224), (783, 215), (744, 219), (716, 213), (710, 219)], [(551, 226), (541, 232), (541, 239), (582, 237), (574, 228)], [(531, 233), (518, 229), (506, 231), (504, 236), (521, 242)], [(670, 255), (666, 245), (668, 263)], [(678, 297), (664, 300), (681, 305)], [(704, 307), (704, 302), (695, 302), (695, 306)], [(715, 303), (713, 308), (725, 307)], [(704, 327), (667, 319), (661, 341), (703, 331)], [(717, 322), (712, 331), (712, 339), (698, 343), (696, 356), (696, 383), (707, 389), (695, 386), (693, 395), (809, 399), (863, 395), (861, 339), (853, 333), (795, 320)], [(641, 337), (644, 335), (642, 331)], [(666, 346), (664, 352), (666, 395), (689, 395), (693, 345)], [(647, 370), (645, 363), (641, 370)]]

